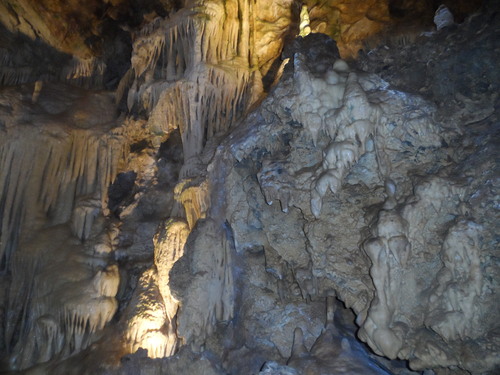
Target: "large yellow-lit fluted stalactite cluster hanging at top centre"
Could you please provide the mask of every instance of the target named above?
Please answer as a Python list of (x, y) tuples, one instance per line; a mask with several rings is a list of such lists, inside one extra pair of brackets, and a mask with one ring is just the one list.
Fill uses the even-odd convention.
[[(134, 42), (136, 80), (129, 84), (129, 109), (139, 103), (151, 111), (156, 131), (180, 128), (187, 158), (233, 126), (256, 98), (257, 78), (243, 52), (252, 48), (248, 17), (246, 0), (195, 2), (167, 20), (154, 21)], [(153, 75), (159, 83), (151, 83)], [(122, 80), (120, 92), (125, 85)]]

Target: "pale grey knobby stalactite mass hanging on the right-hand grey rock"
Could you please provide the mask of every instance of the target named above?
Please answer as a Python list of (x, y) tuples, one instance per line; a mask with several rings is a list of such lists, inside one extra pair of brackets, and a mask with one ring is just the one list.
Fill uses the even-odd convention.
[[(322, 166), (315, 171), (311, 183), (311, 212), (319, 217), (327, 191), (337, 193), (351, 166), (366, 152), (366, 143), (378, 125), (372, 120), (380, 121), (380, 109), (369, 102), (357, 74), (350, 73), (343, 60), (336, 60), (321, 78), (310, 72), (305, 65), (305, 57), (300, 54), (295, 55), (294, 65), (299, 97), (292, 117), (304, 125), (313, 145), (317, 146), (322, 135), (330, 138), (330, 143), (323, 150)], [(290, 183), (281, 181), (284, 180), (282, 177), (267, 182), (263, 176), (271, 176), (272, 171), (267, 165), (263, 168), (266, 170), (260, 172), (259, 181), (266, 198), (277, 196), (276, 192), (280, 190), (278, 185), (284, 191), (290, 190)], [(283, 170), (279, 165), (276, 169)], [(274, 174), (279, 176), (282, 172)], [(282, 208), (286, 209), (289, 198), (286, 194), (281, 195)]]

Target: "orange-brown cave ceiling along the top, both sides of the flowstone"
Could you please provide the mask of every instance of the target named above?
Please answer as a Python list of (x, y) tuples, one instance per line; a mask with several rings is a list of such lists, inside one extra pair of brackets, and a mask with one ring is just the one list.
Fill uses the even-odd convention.
[[(0, 21), (11, 31), (41, 38), (62, 52), (85, 58), (101, 55), (118, 30), (138, 30), (155, 17), (167, 17), (189, 3), (190, 0), (3, 0)], [(363, 39), (391, 23), (404, 20), (431, 24), (435, 9), (442, 3), (460, 21), (476, 10), (481, 1), (277, 0), (257, 1), (255, 11), (262, 21), (272, 22), (280, 8), (293, 4), (296, 9), (288, 16), (297, 22), (302, 3), (309, 9), (312, 29), (335, 38), (352, 56)]]

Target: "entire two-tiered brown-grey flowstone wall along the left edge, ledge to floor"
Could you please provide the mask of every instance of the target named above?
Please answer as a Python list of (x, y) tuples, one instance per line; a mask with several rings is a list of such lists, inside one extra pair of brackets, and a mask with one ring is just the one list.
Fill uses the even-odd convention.
[(46, 83), (0, 97), (3, 345), (23, 369), (84, 349), (117, 310), (117, 230), (103, 212), (124, 139), (109, 94)]

